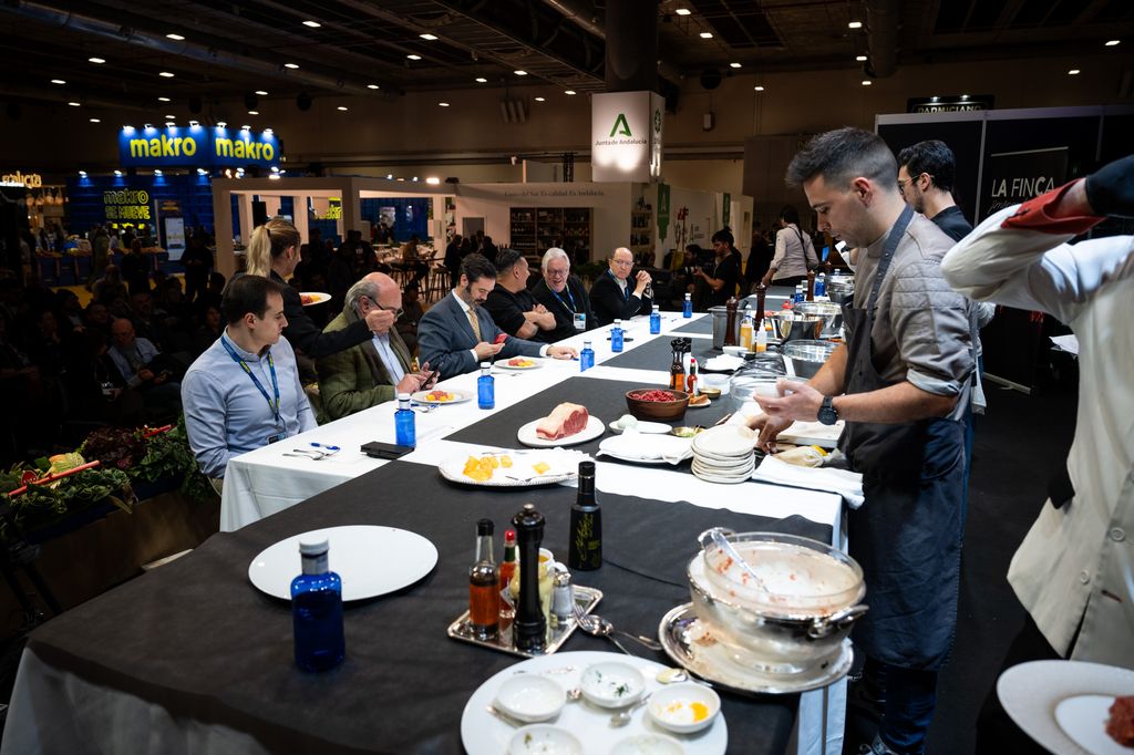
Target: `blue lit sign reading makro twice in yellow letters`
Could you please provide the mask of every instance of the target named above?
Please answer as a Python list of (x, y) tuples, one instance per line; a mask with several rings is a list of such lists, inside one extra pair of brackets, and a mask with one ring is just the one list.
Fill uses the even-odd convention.
[(126, 126), (118, 134), (118, 155), (127, 168), (271, 168), (279, 164), (280, 144), (271, 129), (254, 134), (244, 128), (230, 130), (220, 126), (150, 126), (142, 129)]

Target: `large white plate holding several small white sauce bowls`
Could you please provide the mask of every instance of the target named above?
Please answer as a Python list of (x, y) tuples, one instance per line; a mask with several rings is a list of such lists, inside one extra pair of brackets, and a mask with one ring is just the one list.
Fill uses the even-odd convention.
[[(558, 681), (564, 689), (575, 689), (581, 685), (583, 672), (587, 667), (606, 662), (628, 663), (645, 677), (645, 692), (651, 693), (662, 685), (657, 680), (658, 672), (666, 667), (642, 658), (621, 655), (618, 653), (600, 653), (583, 651), (574, 653), (555, 653), (533, 658), (490, 677), (482, 684), (465, 704), (460, 716), (460, 740), (468, 755), (500, 755), (507, 752), (508, 741), (516, 729), (488, 712), (488, 706), (496, 699), (497, 690), (506, 679), (517, 673), (542, 673)], [(578, 701), (567, 703), (556, 718), (547, 723), (567, 729), (583, 745), (583, 752), (590, 755), (606, 755), (619, 741), (634, 735), (665, 735), (682, 744), (687, 755), (719, 755), (728, 747), (728, 724), (725, 715), (719, 714), (711, 727), (695, 735), (679, 735), (666, 731), (649, 720), (644, 707), (632, 713), (631, 722), (621, 728), (610, 726), (610, 709), (598, 707), (591, 703)]]

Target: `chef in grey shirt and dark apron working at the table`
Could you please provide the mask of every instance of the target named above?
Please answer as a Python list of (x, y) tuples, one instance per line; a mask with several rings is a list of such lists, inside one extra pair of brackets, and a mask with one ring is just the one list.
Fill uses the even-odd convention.
[(945, 285), (953, 240), (916, 215), (897, 188), (897, 164), (877, 135), (822, 134), (788, 179), (803, 186), (820, 230), (858, 249), (846, 343), (807, 385), (750, 424), (773, 446), (793, 421), (846, 422), (839, 448), (863, 475), (865, 503), (847, 516), (870, 611), (855, 650), (879, 694), (881, 720), (863, 752), (922, 753), (937, 673), (953, 645), (964, 510), (964, 424), (973, 371), (968, 303)]

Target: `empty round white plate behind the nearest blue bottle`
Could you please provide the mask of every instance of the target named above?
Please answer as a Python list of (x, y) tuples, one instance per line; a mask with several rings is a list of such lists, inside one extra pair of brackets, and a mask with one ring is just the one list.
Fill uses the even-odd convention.
[(248, 565), (248, 579), (272, 597), (291, 600), (299, 575), (299, 541), (330, 543), (331, 571), (342, 577), (342, 600), (378, 597), (414, 584), (437, 565), (437, 548), (397, 527), (347, 525), (293, 535), (261, 551)]

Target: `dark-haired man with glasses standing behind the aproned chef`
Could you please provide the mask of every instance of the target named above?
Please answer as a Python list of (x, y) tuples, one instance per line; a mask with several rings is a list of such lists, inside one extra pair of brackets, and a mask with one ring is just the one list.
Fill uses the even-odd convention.
[(941, 141), (930, 139), (907, 146), (898, 153), (898, 189), (911, 207), (933, 221), (954, 241), (973, 230), (965, 214), (953, 201), (956, 175), (953, 150)]

